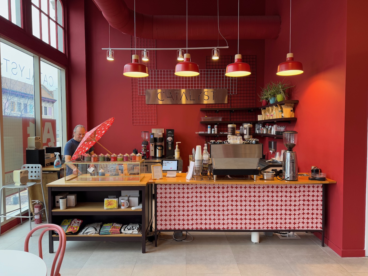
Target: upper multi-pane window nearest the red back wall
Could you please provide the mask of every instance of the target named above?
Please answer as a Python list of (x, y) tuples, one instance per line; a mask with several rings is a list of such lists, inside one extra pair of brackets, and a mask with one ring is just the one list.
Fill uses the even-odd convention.
[(60, 0), (32, 0), (33, 35), (64, 52), (63, 6)]

